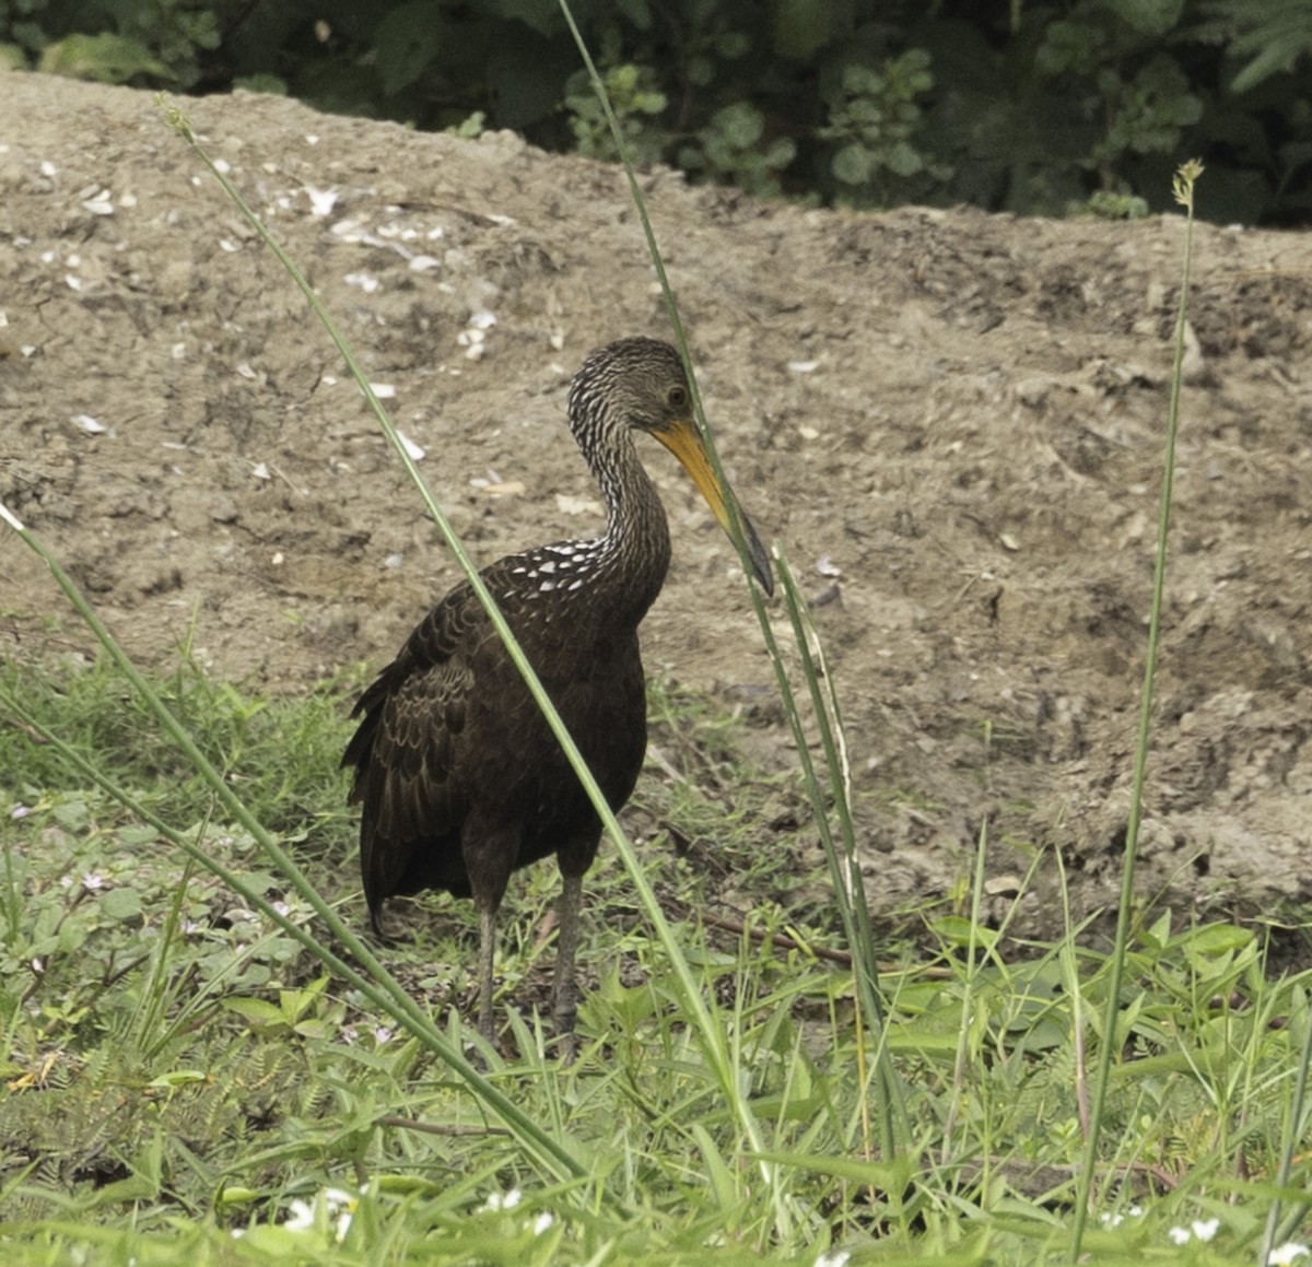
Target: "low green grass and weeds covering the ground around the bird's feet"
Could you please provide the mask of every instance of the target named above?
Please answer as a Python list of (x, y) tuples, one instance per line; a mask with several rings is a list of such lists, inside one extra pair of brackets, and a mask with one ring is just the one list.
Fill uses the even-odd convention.
[[(21, 690), (47, 724), (88, 744), (114, 733), (117, 773), (143, 799), (168, 799), (197, 820), (213, 813), (202, 790), (159, 770), (150, 723), (106, 669), (58, 679), (29, 669), (21, 687), (17, 673), (7, 695)], [(349, 690), (215, 691), (193, 669), (155, 685), (184, 710), (214, 702), (207, 733), (234, 727), (243, 755), (224, 766), (252, 801), (287, 788), (329, 794), (319, 809), (325, 839), (306, 864), (362, 922), (335, 769)], [(572, 1141), (615, 1199), (606, 1209), (543, 1175), (391, 1016), (9, 724), (0, 731), (0, 759), (14, 774), (0, 797), (0, 1236), (10, 1257), (810, 1262), (829, 1243), (871, 1262), (1060, 1255), (1082, 1149), (1077, 1036), (1099, 1045), (1107, 957), (1078, 946), (1075, 930), (1052, 946), (1019, 946), (938, 913), (922, 913), (928, 934), (887, 930), (916, 948), (882, 977), (913, 1149), (900, 1162), (867, 1161), (870, 1069), (863, 1083), (851, 973), (698, 919), (731, 909), (762, 933), (836, 944), (832, 912), (787, 901), (799, 884), (823, 889), (821, 874), (796, 870), (813, 828), (765, 826), (778, 780), (744, 767), (741, 723), (715, 700), (661, 683), (652, 716), (666, 767), (648, 767), (627, 821), (642, 828), (643, 866), (724, 1026), (765, 1150), (785, 1159), (790, 1239), (762, 1184), (733, 1161), (733, 1115), (614, 858), (589, 876), (579, 1062), (560, 1069), (542, 1055), (534, 1005), (547, 997), (552, 948), (541, 933), (556, 877), (541, 866), (517, 877), (502, 921), (499, 1007), (518, 1055), (489, 1056), (488, 1070)], [(270, 762), (265, 745), (289, 741), (297, 761)], [(218, 821), (205, 830), (248, 883), (286, 902), (293, 919), (314, 921), (249, 835)], [(1127, 960), (1093, 1188), (1098, 1212), (1144, 1213), (1114, 1230), (1096, 1222), (1090, 1262), (1149, 1250), (1233, 1262), (1252, 1257), (1261, 1234), (1309, 977), (1271, 980), (1256, 931), (1182, 915), (1138, 929)], [(384, 960), (458, 1040), (472, 993), (470, 904), (399, 904), (396, 922), (407, 935)], [(1305, 1179), (1296, 1169), (1291, 1183)], [(341, 1243), (329, 1188), (356, 1203)], [(485, 1208), (508, 1192), (522, 1194), (513, 1208)], [(1220, 1218), (1212, 1242), (1168, 1239), (1169, 1228), (1211, 1217)]]

